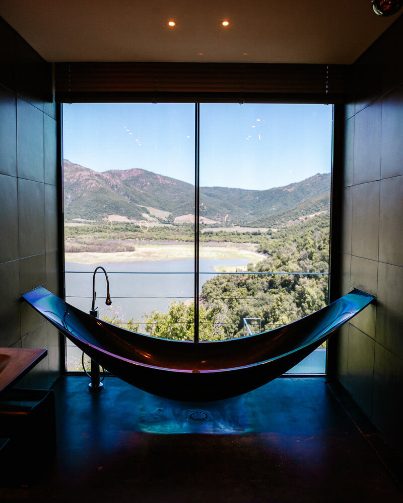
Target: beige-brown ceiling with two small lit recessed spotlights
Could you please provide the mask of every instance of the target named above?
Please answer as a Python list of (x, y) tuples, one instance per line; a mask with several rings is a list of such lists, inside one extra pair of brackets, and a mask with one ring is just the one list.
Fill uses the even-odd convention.
[(376, 16), (370, 0), (0, 0), (0, 15), (54, 62), (349, 64), (400, 13)]

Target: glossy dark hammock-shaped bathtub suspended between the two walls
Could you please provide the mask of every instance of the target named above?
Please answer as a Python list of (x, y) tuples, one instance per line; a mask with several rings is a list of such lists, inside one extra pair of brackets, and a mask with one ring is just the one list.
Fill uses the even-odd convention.
[(353, 290), (274, 330), (193, 343), (125, 330), (80, 311), (42, 287), (23, 298), (120, 379), (155, 395), (193, 402), (240, 395), (284, 374), (374, 299)]

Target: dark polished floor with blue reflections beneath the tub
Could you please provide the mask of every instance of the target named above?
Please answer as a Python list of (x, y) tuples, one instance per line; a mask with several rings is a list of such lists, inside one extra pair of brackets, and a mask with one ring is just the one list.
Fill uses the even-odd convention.
[[(323, 378), (281, 378), (233, 399), (174, 402), (115, 377), (55, 386), (57, 450), (4, 501), (403, 500)], [(38, 463), (40, 456), (38, 453)]]

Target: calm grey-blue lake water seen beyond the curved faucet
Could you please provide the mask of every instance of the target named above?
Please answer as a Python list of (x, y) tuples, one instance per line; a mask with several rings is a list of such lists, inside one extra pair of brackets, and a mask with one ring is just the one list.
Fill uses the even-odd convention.
[[(209, 279), (217, 276), (214, 267), (245, 266), (248, 260), (200, 259), (199, 290)], [(194, 261), (171, 260), (162, 262), (131, 262), (98, 264), (108, 273), (112, 305), (105, 305), (106, 281), (102, 272), (97, 273), (95, 290), (96, 306), (100, 317), (115, 315), (127, 320), (142, 319), (143, 313), (153, 309), (168, 312), (169, 302), (187, 300), (194, 296)], [(96, 266), (65, 263), (66, 301), (83, 311), (89, 311), (92, 303), (92, 275)], [(151, 274), (149, 274), (151, 273)]]

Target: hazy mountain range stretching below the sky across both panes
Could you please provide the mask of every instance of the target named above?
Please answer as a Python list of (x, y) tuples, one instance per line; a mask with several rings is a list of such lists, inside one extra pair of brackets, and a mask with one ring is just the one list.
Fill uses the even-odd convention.
[[(129, 220), (167, 223), (194, 214), (191, 184), (142, 169), (98, 173), (69, 160), (64, 160), (63, 166), (66, 220), (102, 220), (108, 215), (120, 215)], [(329, 191), (329, 174), (264, 191), (200, 187), (200, 216), (233, 224), (263, 222), (271, 215), (292, 212), (304, 202), (301, 209), (311, 211), (309, 201)], [(314, 206), (321, 211), (324, 204), (316, 201)]]

